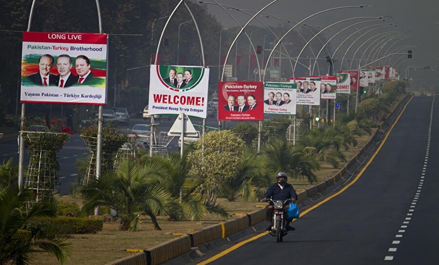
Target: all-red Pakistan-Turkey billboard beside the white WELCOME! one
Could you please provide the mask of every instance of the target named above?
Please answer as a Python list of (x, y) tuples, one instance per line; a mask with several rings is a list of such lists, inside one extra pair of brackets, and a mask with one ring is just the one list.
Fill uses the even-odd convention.
[(263, 82), (218, 82), (219, 121), (262, 121)]

